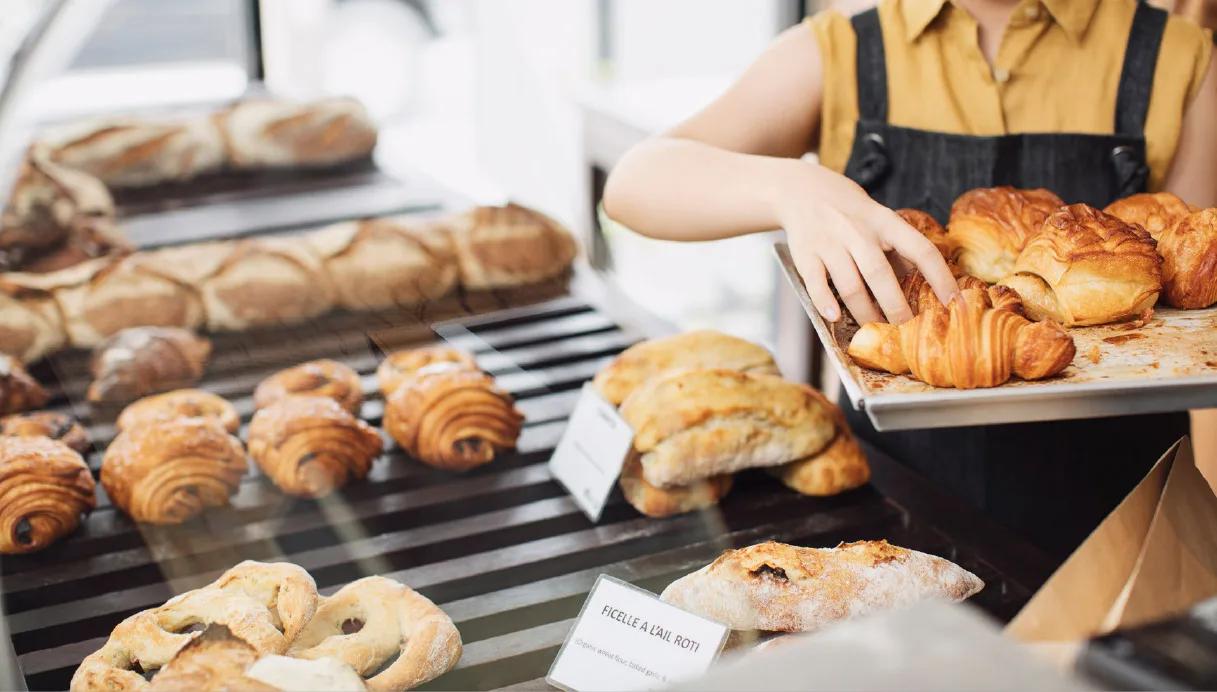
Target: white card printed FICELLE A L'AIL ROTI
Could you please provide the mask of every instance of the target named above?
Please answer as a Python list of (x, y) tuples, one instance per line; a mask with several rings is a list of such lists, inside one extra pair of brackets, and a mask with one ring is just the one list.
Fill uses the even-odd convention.
[(545, 681), (573, 692), (658, 690), (705, 673), (728, 634), (727, 625), (601, 574)]

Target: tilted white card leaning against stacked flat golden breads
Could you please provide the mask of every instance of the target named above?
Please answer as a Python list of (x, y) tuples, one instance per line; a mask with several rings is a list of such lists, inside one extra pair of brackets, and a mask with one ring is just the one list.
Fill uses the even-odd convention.
[(549, 460), (549, 472), (596, 522), (633, 444), (634, 431), (588, 382)]

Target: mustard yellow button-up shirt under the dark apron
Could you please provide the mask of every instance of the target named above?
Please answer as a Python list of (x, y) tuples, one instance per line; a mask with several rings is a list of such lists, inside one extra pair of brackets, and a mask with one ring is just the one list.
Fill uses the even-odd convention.
[[(1111, 134), (1135, 0), (1021, 0), (991, 67), (976, 21), (948, 0), (882, 0), (888, 122), (968, 135)], [(824, 58), (820, 162), (845, 170), (858, 119), (857, 40), (836, 11), (808, 19)], [(1145, 122), (1150, 189), (1162, 186), (1188, 103), (1204, 80), (1210, 33), (1172, 16)]]

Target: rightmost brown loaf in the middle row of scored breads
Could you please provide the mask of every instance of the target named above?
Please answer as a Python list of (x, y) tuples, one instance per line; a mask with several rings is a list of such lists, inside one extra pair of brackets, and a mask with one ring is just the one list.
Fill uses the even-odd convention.
[(535, 283), (567, 271), (578, 247), (571, 232), (520, 204), (477, 207), (453, 220), (465, 288)]

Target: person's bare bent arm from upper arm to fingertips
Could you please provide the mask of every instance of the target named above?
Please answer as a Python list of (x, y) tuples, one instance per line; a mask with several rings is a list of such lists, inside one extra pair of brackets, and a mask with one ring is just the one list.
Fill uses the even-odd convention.
[(912, 316), (890, 251), (949, 299), (958, 287), (932, 243), (854, 182), (798, 158), (815, 137), (821, 91), (813, 33), (802, 24), (786, 30), (713, 103), (632, 148), (608, 179), (605, 212), (664, 240), (786, 229), (808, 293), (828, 320), (840, 317), (830, 279), (859, 322)]

